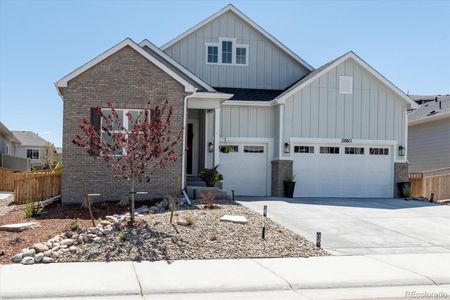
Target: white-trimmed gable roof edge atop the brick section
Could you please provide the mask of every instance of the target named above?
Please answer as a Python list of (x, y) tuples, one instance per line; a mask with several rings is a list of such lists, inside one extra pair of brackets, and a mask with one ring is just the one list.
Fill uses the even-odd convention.
[(159, 67), (161, 70), (163, 70), (164, 72), (169, 74), (176, 81), (181, 83), (185, 87), (185, 91), (186, 92), (194, 92), (195, 91), (195, 87), (191, 83), (189, 83), (187, 80), (182, 78), (176, 72), (174, 72), (173, 70), (168, 68), (163, 63), (161, 63), (158, 59), (153, 57), (150, 53), (148, 53), (147, 51), (142, 49), (142, 47), (139, 46), (138, 44), (136, 44), (132, 39), (126, 38), (125, 40), (123, 40), (122, 42), (118, 43), (114, 47), (112, 47), (109, 50), (103, 52), (102, 54), (100, 54), (96, 58), (90, 60), (88, 63), (84, 64), (83, 66), (79, 67), (75, 71), (71, 72), (70, 74), (68, 74), (68, 75), (64, 76), (63, 78), (61, 78), (60, 80), (58, 80), (55, 83), (55, 86), (58, 89), (58, 92), (59, 92), (59, 88), (67, 87), (67, 84), (68, 84), (68, 82), (70, 80), (72, 80), (73, 78), (77, 77), (78, 75), (80, 75), (81, 73), (85, 72), (86, 70), (92, 68), (93, 66), (95, 66), (99, 62), (103, 61), (104, 59), (108, 58), (109, 56), (113, 55), (114, 53), (116, 53), (117, 51), (121, 50), (122, 48), (124, 48), (126, 46), (129, 46), (129, 47), (133, 48), (136, 52), (141, 54), (147, 60), (149, 60), (150, 62), (155, 64), (157, 67)]

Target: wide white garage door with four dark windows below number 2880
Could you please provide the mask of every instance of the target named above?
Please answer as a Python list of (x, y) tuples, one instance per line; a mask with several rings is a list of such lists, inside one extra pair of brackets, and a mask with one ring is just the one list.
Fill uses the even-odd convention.
[(296, 144), (294, 195), (298, 197), (392, 197), (390, 146)]

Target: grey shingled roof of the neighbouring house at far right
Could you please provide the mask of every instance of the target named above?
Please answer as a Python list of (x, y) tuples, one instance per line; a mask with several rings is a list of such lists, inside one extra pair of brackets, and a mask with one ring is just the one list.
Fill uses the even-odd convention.
[(434, 100), (422, 104), (416, 111), (410, 113), (408, 115), (409, 125), (450, 117), (449, 95), (428, 97), (432, 97)]

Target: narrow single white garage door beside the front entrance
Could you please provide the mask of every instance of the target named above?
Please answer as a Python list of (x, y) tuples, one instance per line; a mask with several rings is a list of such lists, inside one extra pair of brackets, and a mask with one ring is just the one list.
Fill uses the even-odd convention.
[[(219, 171), (223, 189), (240, 196), (266, 196), (267, 144), (229, 144), (220, 146)], [(269, 168), (269, 169), (268, 169)]]

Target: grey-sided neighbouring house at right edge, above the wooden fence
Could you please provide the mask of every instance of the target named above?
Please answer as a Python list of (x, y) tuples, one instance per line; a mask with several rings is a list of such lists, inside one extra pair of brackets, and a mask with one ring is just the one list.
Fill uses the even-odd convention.
[(450, 168), (450, 96), (411, 96), (432, 99), (408, 115), (410, 172)]

